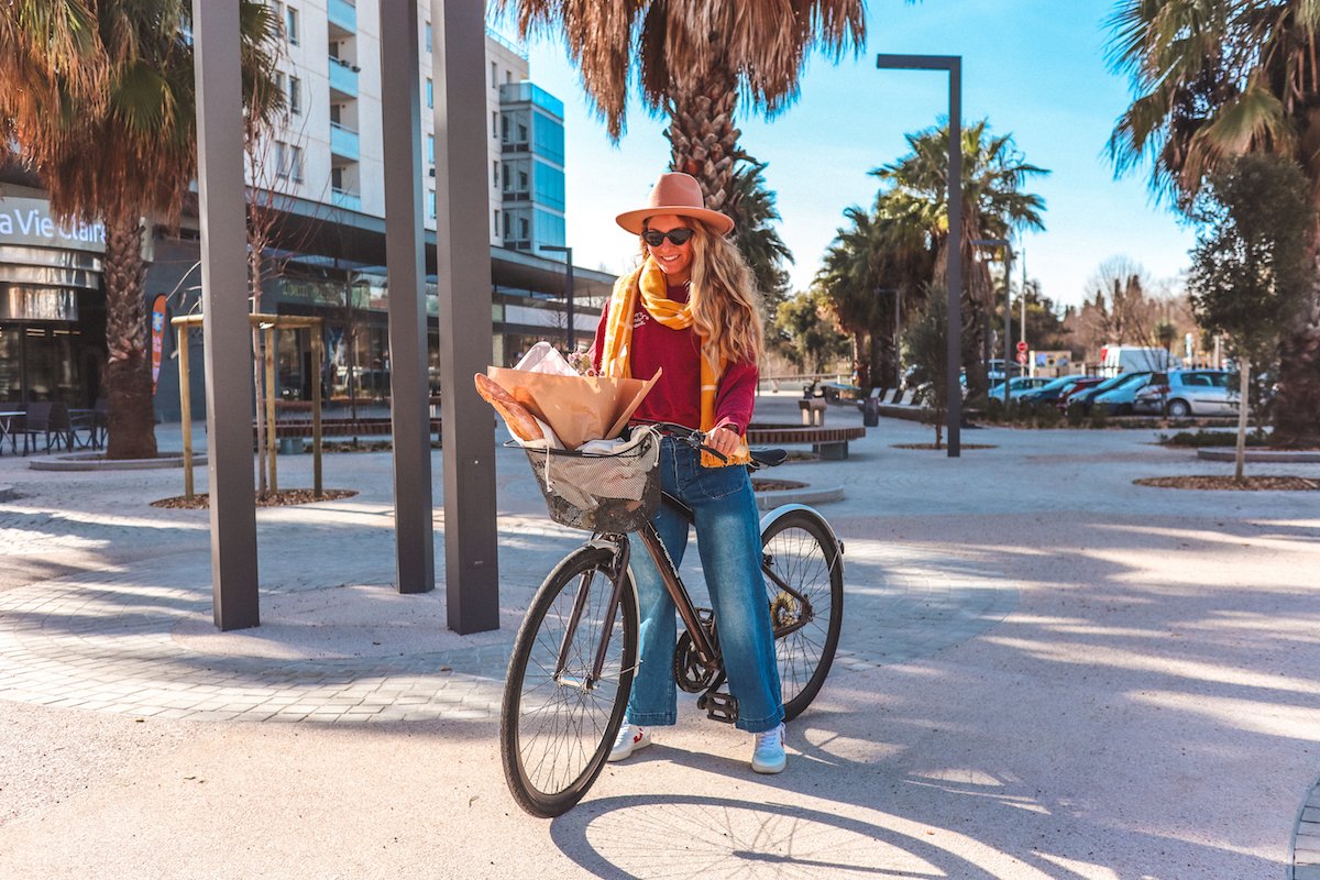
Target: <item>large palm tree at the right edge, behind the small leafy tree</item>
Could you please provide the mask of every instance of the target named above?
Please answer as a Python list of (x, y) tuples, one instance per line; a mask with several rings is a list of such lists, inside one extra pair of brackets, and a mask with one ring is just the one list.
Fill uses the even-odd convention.
[[(1135, 98), (1109, 153), (1119, 173), (1151, 160), (1151, 189), (1189, 212), (1237, 156), (1282, 153), (1320, 204), (1320, 7), (1309, 0), (1122, 0), (1110, 63)], [(1308, 231), (1320, 255), (1320, 220)], [(1279, 348), (1275, 441), (1320, 443), (1320, 285)]]

